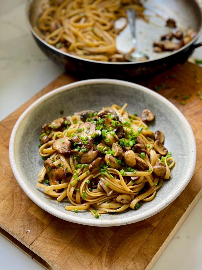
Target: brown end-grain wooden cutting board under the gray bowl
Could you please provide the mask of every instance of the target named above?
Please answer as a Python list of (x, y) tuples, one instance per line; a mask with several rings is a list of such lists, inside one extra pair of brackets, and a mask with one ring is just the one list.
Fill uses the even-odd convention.
[(119, 227), (79, 225), (48, 214), (25, 195), (9, 164), (9, 137), (18, 117), (40, 96), (76, 80), (59, 76), (0, 122), (0, 233), (45, 269), (151, 269), (202, 195), (202, 68), (186, 62), (140, 82), (168, 98), (191, 124), (196, 168), (184, 191), (164, 210)]

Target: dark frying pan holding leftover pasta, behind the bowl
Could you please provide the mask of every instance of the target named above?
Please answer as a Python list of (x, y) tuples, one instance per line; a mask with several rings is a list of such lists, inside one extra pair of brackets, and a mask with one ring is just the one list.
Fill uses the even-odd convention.
[[(76, 75), (83, 78), (105, 77), (136, 80), (145, 75), (162, 72), (177, 63), (183, 63), (195, 48), (202, 46), (202, 43), (196, 43), (202, 28), (202, 13), (196, 1), (147, 0), (144, 2), (144, 6), (150, 22), (146, 23), (142, 19), (137, 21), (137, 40), (138, 48), (141, 47), (142, 51), (147, 52), (150, 56), (149, 60), (142, 62), (100, 62), (82, 59), (61, 52), (54, 46), (49, 45), (33, 30), (33, 27), (37, 25), (37, 19), (42, 13), (41, 7), (44, 2), (47, 2), (47, 0), (29, 0), (27, 3), (26, 14), (34, 40), (51, 60), (68, 70), (68, 72), (76, 73)], [(154, 40), (159, 40), (161, 34), (168, 32), (165, 28), (165, 21), (168, 18), (175, 19), (177, 27), (183, 31), (193, 28), (197, 32), (197, 36), (179, 50), (154, 53), (152, 43)], [(125, 37), (119, 39), (122, 44), (127, 45), (129, 40), (127, 31), (125, 35)], [(117, 46), (119, 45), (117, 44)]]

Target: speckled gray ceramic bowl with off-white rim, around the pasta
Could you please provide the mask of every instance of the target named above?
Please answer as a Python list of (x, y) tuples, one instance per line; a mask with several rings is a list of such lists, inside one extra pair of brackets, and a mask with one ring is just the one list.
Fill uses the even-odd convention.
[[(85, 109), (99, 110), (113, 103), (140, 115), (145, 108), (155, 114), (152, 130), (165, 134), (165, 146), (172, 151), (175, 166), (169, 180), (157, 191), (154, 200), (140, 203), (138, 210), (103, 214), (95, 219), (88, 212), (66, 211), (67, 200), (58, 203), (36, 187), (43, 161), (38, 154), (41, 125)], [(191, 127), (179, 110), (161, 95), (134, 83), (120, 80), (84, 80), (62, 86), (34, 102), (16, 122), (10, 139), (9, 156), (13, 173), (23, 191), (41, 208), (67, 221), (92, 226), (117, 226), (144, 220), (165, 208), (189, 183), (196, 162), (196, 144)]]

